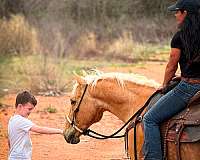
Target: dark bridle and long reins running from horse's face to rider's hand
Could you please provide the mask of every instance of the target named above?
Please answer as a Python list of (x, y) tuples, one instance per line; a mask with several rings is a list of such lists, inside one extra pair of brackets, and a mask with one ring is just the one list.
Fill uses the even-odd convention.
[[(80, 109), (80, 105), (83, 101), (83, 98), (84, 98), (84, 95), (87, 91), (87, 88), (88, 88), (88, 84), (85, 85), (85, 88), (84, 88), (84, 92), (81, 96), (81, 99), (78, 103), (78, 106), (77, 108), (75, 109), (74, 113), (73, 113), (73, 117), (72, 117), (72, 120), (70, 120), (69, 116), (66, 116), (66, 120), (70, 123), (70, 125), (76, 129), (77, 131), (79, 131), (81, 134), (85, 135), (85, 136), (89, 136), (89, 137), (92, 137), (92, 138), (96, 138), (96, 139), (108, 139), (108, 138), (122, 138), (122, 137), (125, 137), (126, 136), (126, 133), (123, 134), (123, 135), (117, 135), (122, 129), (124, 129), (134, 118), (136, 118), (137, 120), (136, 121), (141, 121), (142, 120), (142, 117), (140, 116), (140, 114), (143, 112), (143, 110), (147, 107), (147, 105), (149, 104), (149, 102), (151, 101), (151, 99), (153, 98), (153, 96), (155, 94), (157, 94), (157, 91), (155, 93), (153, 93), (153, 95), (146, 101), (146, 103), (144, 104), (143, 107), (141, 107), (137, 112), (135, 112), (135, 114), (129, 118), (129, 120), (120, 128), (118, 129), (116, 132), (114, 132), (113, 134), (111, 135), (103, 135), (103, 134), (100, 134), (100, 133), (97, 133), (91, 129), (81, 129), (79, 128), (77, 125), (76, 125), (76, 115), (77, 113), (79, 112), (79, 109)], [(92, 133), (92, 134), (90, 134)]]

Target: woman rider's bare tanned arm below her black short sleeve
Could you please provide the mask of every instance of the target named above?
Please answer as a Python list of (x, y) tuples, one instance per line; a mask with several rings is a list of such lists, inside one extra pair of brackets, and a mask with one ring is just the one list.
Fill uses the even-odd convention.
[(164, 81), (163, 81), (163, 87), (165, 87), (169, 81), (175, 76), (175, 73), (178, 68), (178, 62), (180, 59), (181, 50), (178, 48), (171, 48), (169, 61), (167, 63), (167, 66), (165, 68), (165, 75), (164, 75)]

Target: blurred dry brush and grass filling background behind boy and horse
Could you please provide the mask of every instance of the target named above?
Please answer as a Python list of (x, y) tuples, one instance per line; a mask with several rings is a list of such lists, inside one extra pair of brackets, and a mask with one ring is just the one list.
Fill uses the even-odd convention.
[(173, 2), (0, 0), (0, 89), (60, 92), (72, 70), (98, 66), (81, 61), (135, 63), (168, 51)]

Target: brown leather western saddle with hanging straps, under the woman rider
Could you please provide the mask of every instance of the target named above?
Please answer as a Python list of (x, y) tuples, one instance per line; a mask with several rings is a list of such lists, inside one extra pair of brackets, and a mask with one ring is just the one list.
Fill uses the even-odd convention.
[[(137, 160), (137, 147), (136, 147), (136, 125), (142, 122), (142, 115), (144, 109), (148, 111), (163, 95), (172, 90), (180, 79), (174, 79), (169, 85), (162, 91), (156, 91), (146, 101), (141, 111), (134, 120), (132, 120), (129, 126), (126, 128), (125, 136), (125, 150), (128, 148), (128, 132), (134, 128), (134, 157)], [(142, 123), (140, 123), (142, 124)], [(163, 122), (160, 126), (164, 159), (167, 158), (167, 142), (174, 142), (176, 145), (177, 160), (181, 160), (180, 143), (195, 143), (200, 142), (200, 91), (197, 92), (189, 101), (187, 107), (172, 117), (171, 119)]]

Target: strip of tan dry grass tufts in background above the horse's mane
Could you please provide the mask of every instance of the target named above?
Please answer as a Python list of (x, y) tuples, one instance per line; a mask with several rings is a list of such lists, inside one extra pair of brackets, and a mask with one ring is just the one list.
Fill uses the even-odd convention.
[[(70, 48), (70, 55), (78, 59), (119, 60), (122, 62), (136, 62), (148, 60), (152, 54), (168, 51), (165, 45), (152, 45), (134, 41), (133, 34), (124, 31), (121, 36), (112, 40), (98, 40), (94, 32), (86, 32), (74, 42)], [(157, 50), (157, 51), (156, 51)]]

